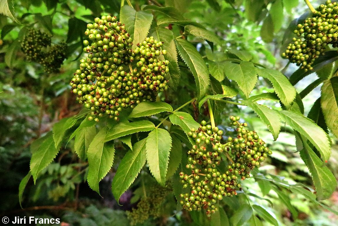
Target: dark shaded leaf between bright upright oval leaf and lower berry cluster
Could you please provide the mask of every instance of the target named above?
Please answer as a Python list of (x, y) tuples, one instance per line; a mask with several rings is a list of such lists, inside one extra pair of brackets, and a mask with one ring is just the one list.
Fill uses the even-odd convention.
[(176, 137), (171, 135), (172, 147), (169, 156), (167, 180), (171, 178), (176, 172), (182, 160), (182, 142)]

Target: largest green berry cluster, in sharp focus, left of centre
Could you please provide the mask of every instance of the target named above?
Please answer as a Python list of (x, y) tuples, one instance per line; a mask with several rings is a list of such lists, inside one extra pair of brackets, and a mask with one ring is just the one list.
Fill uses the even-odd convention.
[(169, 61), (163, 43), (146, 38), (132, 49), (132, 39), (116, 17), (95, 18), (88, 24), (83, 51), (70, 85), (77, 101), (90, 110), (89, 120), (107, 115), (119, 120), (123, 108), (134, 108), (141, 101), (154, 101), (168, 89)]

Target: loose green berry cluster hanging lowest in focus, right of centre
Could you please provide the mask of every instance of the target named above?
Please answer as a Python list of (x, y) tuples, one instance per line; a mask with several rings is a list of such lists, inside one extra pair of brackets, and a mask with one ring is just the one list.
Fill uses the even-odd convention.
[[(241, 188), (238, 180), (249, 178), (250, 171), (272, 154), (255, 131), (247, 130), (247, 124), (239, 122), (238, 116), (231, 116), (230, 121), (237, 136), (228, 137), (225, 143), (223, 131), (206, 125), (206, 121), (188, 133), (195, 142), (186, 165), (191, 174), (179, 174), (183, 188), (190, 188), (189, 193), (180, 194), (180, 204), (188, 211), (205, 210), (207, 216), (216, 212), (217, 200), (237, 195), (236, 190)], [(219, 167), (222, 161), (227, 164), (225, 170)]]

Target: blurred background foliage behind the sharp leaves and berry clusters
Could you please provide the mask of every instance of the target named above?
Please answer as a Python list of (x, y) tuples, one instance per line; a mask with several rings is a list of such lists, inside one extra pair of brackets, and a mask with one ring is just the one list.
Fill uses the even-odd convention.
[[(321, 3), (311, 2), (314, 6)], [(205, 59), (217, 58), (219, 51), (227, 51), (228, 54), (237, 56), (241, 51), (245, 51), (250, 53), (253, 62), (281, 70), (287, 76), (296, 68), (292, 65), (285, 67), (287, 60), (280, 57), (279, 49), (283, 45), (283, 36), (288, 33), (287, 27), (293, 19), (309, 11), (304, 1), (297, 0), (135, 0), (131, 3), (137, 10), (144, 4), (174, 6), (185, 18), (203, 24), (210, 32), (218, 35), (222, 42), (215, 46), (213, 52), (204, 40), (189, 40)], [(72, 145), (68, 144), (58, 154), (55, 162), (45, 169), (35, 186), (33, 181), (28, 182), (22, 202), (23, 209), (20, 208), (18, 200), (19, 183), (29, 171), (30, 144), (34, 145), (35, 139), (48, 133), (55, 122), (75, 115), (81, 109), (75, 98), (70, 95), (68, 84), (77, 68), (77, 59), (82, 54), (86, 24), (100, 15), (118, 16), (120, 4), (120, 1), (111, 0), (22, 0), (14, 1), (15, 16), (21, 24), (0, 15), (1, 216), (54, 217), (60, 218), (62, 225), (130, 225), (126, 211), (135, 208), (144, 194), (152, 193), (146, 184), (154, 181), (151, 181), (149, 172), (144, 169), (131, 189), (122, 196), (122, 206), (119, 206), (110, 188), (114, 176), (113, 168), (100, 183), (102, 199), (84, 181), (87, 163), (80, 162), (74, 150), (70, 148)], [(62, 40), (67, 42), (67, 59), (59, 73), (45, 74), (39, 64), (25, 61), (20, 51), (20, 40), (30, 27), (51, 33), (53, 43)], [(307, 76), (297, 84), (297, 91), (300, 92), (306, 84), (316, 78), (314, 73)], [(182, 86), (189, 86), (189, 81), (182, 83)], [(319, 89), (314, 89), (303, 99), (305, 112), (310, 110), (309, 106), (320, 95)], [(184, 96), (180, 98), (182, 95), (179, 90), (176, 96), (166, 97), (172, 104), (180, 105), (185, 101)], [(253, 94), (269, 91), (272, 91), (270, 83), (260, 80)], [(234, 97), (236, 98), (240, 96)], [(271, 107), (280, 109), (279, 105)], [(225, 122), (231, 114), (239, 115), (248, 122), (250, 129), (259, 131), (260, 137), (273, 150), (273, 155), (260, 168), (260, 172), (278, 177), (265, 179), (282, 183), (282, 178), (288, 184), (302, 183), (313, 189), (311, 176), (297, 153), (295, 138), (290, 128), (284, 126), (277, 141), (273, 141), (266, 126), (248, 108), (226, 105), (223, 110), (224, 117), (221, 117), (219, 122)], [(124, 144), (121, 143), (119, 147), (116, 159), (126, 152)], [(338, 177), (337, 141), (332, 149), (329, 167)], [(257, 171), (256, 174), (260, 172)], [(256, 183), (254, 178), (245, 180), (243, 186), (247, 188), (246, 196), (243, 191), (236, 197), (223, 199), (227, 216), (233, 216), (234, 209), (240, 208), (241, 203), (248, 201), (263, 206), (277, 219), (279, 225), (336, 224), (338, 217), (334, 213), (309, 201), (304, 194), (291, 194), (285, 188), (281, 193), (275, 185), (265, 181)], [(290, 205), (287, 206), (283, 202), (283, 195), (289, 194)], [(156, 218), (151, 217), (138, 225), (196, 225), (193, 221), (198, 222), (199, 216), (176, 211), (175, 200), (171, 196), (172, 194), (168, 195), (166, 200), (159, 204), (161, 211)], [(247, 197), (249, 200), (244, 200)], [(338, 192), (324, 203), (338, 211)], [(243, 215), (246, 214), (245, 209), (241, 211)], [(292, 217), (292, 211), (298, 213), (297, 218)], [(256, 225), (252, 222), (248, 224)], [(262, 222), (260, 225), (271, 224)]]

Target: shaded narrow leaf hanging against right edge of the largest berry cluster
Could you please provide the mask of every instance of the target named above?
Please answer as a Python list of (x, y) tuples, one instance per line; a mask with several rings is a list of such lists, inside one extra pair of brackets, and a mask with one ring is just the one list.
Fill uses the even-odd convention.
[(177, 63), (177, 49), (174, 35), (169, 29), (156, 27), (152, 32), (152, 36), (163, 42), (162, 49), (167, 50), (167, 55), (164, 58), (169, 61), (169, 86), (173, 90), (177, 90), (181, 74)]

